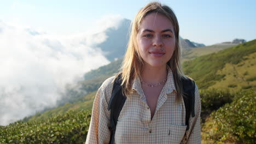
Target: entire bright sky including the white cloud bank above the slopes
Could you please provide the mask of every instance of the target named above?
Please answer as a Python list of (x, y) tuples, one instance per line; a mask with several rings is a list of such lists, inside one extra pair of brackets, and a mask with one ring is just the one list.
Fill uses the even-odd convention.
[[(150, 1), (0, 0), (0, 125), (54, 107), (66, 87), (109, 63), (97, 44)], [(256, 38), (256, 1), (160, 1), (184, 39), (212, 45)]]

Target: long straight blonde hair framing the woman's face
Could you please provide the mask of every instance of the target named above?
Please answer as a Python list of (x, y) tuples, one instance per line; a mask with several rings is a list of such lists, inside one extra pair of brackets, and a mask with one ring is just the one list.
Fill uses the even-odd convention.
[[(121, 76), (123, 79), (122, 87), (123, 93), (130, 97), (132, 93), (132, 84), (133, 81), (140, 77), (143, 70), (143, 59), (138, 52), (138, 41), (137, 35), (139, 31), (139, 26), (143, 21), (144, 17), (150, 13), (159, 13), (166, 16), (173, 24), (174, 35), (176, 38), (175, 49), (171, 59), (167, 62), (168, 66), (172, 70), (174, 85), (176, 87), (177, 97), (176, 101), (180, 101), (182, 97), (182, 83), (181, 77), (183, 77), (183, 71), (181, 68), (181, 47), (179, 46), (179, 25), (178, 20), (173, 13), (172, 9), (167, 5), (161, 5), (159, 2), (152, 2), (147, 4), (144, 8), (139, 10), (135, 19), (132, 23), (132, 29), (130, 34), (130, 40), (127, 47), (127, 51), (124, 56), (123, 64), (121, 67)], [(119, 73), (119, 74), (120, 74)]]

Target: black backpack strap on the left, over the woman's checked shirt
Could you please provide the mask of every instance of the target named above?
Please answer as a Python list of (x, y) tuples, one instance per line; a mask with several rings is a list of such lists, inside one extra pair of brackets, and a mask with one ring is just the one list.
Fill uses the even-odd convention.
[(115, 127), (117, 126), (117, 121), (119, 114), (124, 106), (126, 97), (123, 95), (121, 87), (121, 74), (115, 79), (112, 89), (112, 95), (108, 103), (108, 110), (110, 110), (110, 141), (109, 143), (114, 143), (115, 139)]

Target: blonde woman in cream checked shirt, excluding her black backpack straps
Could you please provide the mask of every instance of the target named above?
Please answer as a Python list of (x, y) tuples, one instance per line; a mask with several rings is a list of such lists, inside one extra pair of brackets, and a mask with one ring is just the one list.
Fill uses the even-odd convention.
[[(185, 125), (179, 25), (173, 11), (158, 2), (142, 8), (132, 24), (121, 67), (127, 99), (115, 130), (115, 143), (201, 143), (201, 102), (195, 86), (195, 116)], [(108, 103), (113, 81), (98, 89), (86, 143), (109, 143)]]

